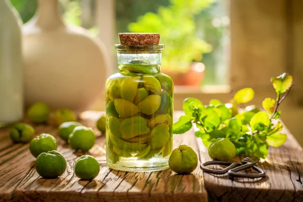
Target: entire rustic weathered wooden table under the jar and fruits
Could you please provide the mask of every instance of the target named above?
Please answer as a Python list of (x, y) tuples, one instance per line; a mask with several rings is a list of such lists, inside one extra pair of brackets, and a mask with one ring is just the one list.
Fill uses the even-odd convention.
[[(93, 127), (96, 144), (90, 155), (100, 163), (100, 173), (92, 181), (74, 175), (74, 163), (81, 153), (74, 153), (58, 138), (57, 128), (35, 126), (36, 135), (53, 134), (58, 150), (67, 160), (66, 172), (57, 179), (43, 179), (35, 171), (35, 158), (28, 144), (13, 144), (9, 128), (0, 130), (0, 201), (303, 201), (303, 150), (293, 136), (279, 148), (270, 148), (269, 156), (259, 165), (267, 173), (263, 179), (235, 179), (203, 173), (199, 167), (190, 175), (176, 175), (170, 169), (160, 172), (122, 172), (109, 169), (105, 159), (105, 135), (95, 128), (102, 113), (87, 112), (81, 122)], [(175, 113), (176, 118), (181, 115)], [(199, 162), (209, 161), (206, 147), (193, 131), (174, 135), (174, 148), (190, 145)], [(240, 159), (238, 159), (240, 160)], [(208, 197), (209, 196), (209, 197)]]

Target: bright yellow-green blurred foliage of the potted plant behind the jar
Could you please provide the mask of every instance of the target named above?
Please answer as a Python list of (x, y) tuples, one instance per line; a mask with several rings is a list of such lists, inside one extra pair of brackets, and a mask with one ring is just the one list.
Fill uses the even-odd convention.
[(170, 0), (170, 3), (161, 6), (157, 14), (145, 13), (128, 28), (131, 32), (161, 33), (161, 43), (166, 45), (162, 68), (185, 72), (192, 61), (201, 61), (203, 53), (212, 51), (212, 45), (196, 36), (195, 16), (213, 2)]

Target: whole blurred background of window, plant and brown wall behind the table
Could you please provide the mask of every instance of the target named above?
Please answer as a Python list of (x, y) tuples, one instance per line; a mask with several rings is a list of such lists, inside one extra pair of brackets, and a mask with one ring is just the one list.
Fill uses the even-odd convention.
[[(24, 23), (37, 2), (11, 0)], [(275, 2), (273, 4), (273, 2)], [(67, 24), (82, 26), (106, 45), (111, 73), (117, 72), (114, 44), (119, 32), (159, 32), (162, 72), (175, 83), (175, 110), (186, 97), (228, 102), (243, 87), (256, 91), (250, 103), (275, 98), (270, 78), (293, 75), (295, 86), (281, 106), (282, 120), (303, 143), (301, 59), (302, 1), (297, 0), (60, 0)], [(104, 110), (104, 97), (92, 108)]]

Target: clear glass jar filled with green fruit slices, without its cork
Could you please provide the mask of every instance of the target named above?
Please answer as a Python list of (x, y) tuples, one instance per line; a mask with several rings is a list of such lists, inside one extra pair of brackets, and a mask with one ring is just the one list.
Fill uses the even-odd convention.
[(160, 72), (164, 44), (115, 46), (119, 73), (106, 82), (107, 164), (164, 170), (173, 143), (173, 81)]

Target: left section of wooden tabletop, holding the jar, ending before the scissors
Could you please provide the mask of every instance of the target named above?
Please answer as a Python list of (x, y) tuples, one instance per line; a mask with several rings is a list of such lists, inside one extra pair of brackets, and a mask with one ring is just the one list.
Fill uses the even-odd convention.
[[(83, 125), (97, 134), (96, 144), (89, 154), (100, 163), (100, 173), (92, 181), (74, 175), (74, 163), (83, 155), (75, 153), (58, 137), (57, 128), (35, 126), (36, 135), (52, 134), (58, 150), (67, 160), (66, 172), (57, 179), (43, 179), (34, 168), (35, 158), (28, 144), (13, 144), (9, 128), (0, 130), (0, 201), (207, 201), (203, 172), (196, 169), (190, 175), (176, 175), (171, 170), (160, 172), (122, 172), (109, 169), (105, 158), (105, 135), (95, 128), (102, 113), (86, 113)], [(88, 117), (88, 118), (87, 118)], [(174, 147), (191, 145), (198, 153), (194, 135), (177, 135)]]

